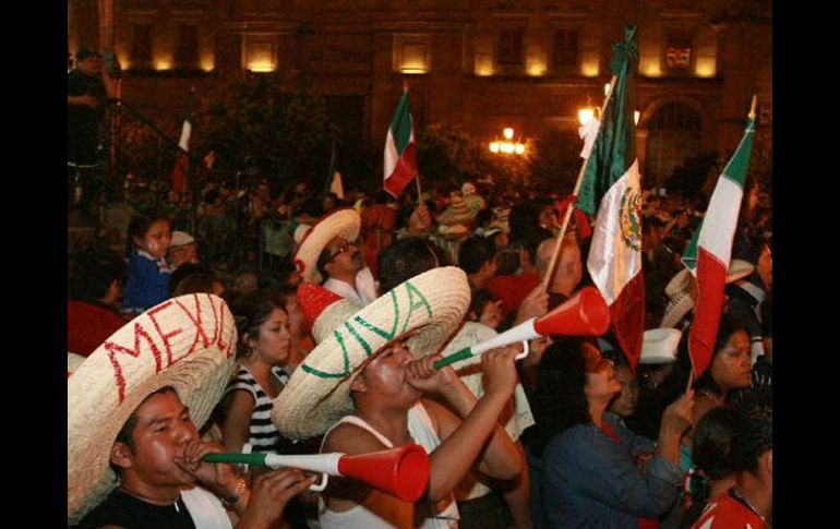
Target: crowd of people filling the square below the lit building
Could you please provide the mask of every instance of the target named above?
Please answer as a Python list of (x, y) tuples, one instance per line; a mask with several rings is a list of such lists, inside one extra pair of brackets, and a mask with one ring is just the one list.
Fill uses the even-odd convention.
[[(711, 364), (688, 386), (697, 285), (681, 255), (697, 200), (644, 196), (638, 365), (609, 332), (439, 370), (590, 285), (593, 219), (576, 213), (559, 239), (566, 197), (472, 182), (400, 200), (252, 188), (206, 185), (195, 233), (139, 214), (122, 252), (97, 241), (71, 256), (69, 525), (771, 526), (772, 232), (757, 191)], [(232, 270), (206, 255), (224, 252), (214, 238), (240, 202), (257, 237), (283, 220), (288, 249), (262, 269), (257, 255)], [(413, 503), (350, 478), (315, 493), (301, 470), (203, 461), (410, 443), (430, 458)]]

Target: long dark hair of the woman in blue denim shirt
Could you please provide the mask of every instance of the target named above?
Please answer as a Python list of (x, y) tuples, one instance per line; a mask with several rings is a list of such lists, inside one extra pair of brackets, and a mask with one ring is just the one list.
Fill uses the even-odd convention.
[(585, 338), (562, 336), (549, 346), (540, 363), (531, 410), (536, 424), (528, 441), (537, 456), (560, 432), (592, 421), (586, 398)]

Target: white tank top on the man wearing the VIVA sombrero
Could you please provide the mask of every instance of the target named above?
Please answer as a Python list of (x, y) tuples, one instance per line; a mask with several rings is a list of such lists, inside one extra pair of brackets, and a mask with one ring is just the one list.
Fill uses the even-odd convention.
[[(388, 448), (394, 447), (394, 443), (392, 443), (391, 440), (377, 432), (363, 419), (356, 416), (344, 417), (340, 421), (335, 423), (333, 428), (336, 428), (338, 424), (345, 422), (356, 424), (357, 426), (369, 431)], [(329, 432), (332, 432), (333, 428), (331, 428), (329, 431), (324, 435), (324, 438), (329, 435)], [(423, 408), (423, 405), (419, 401), (408, 410), (408, 433), (411, 438), (413, 438), (420, 446), (425, 448), (425, 452), (430, 454), (441, 445), (441, 440), (437, 437), (437, 432), (434, 430), (432, 419), (429, 417), (429, 412), (425, 410), (425, 408)], [(323, 450), (323, 443), (321, 448)], [(386, 494), (383, 494), (381, 497), (383, 498), (383, 503), (403, 503), (399, 500)], [(376, 504), (374, 503), (372, 506), (375, 507)], [(387, 517), (387, 506), (384, 506), (382, 510), (383, 516)], [(323, 498), (319, 497), (319, 521), (321, 522), (321, 529), (403, 529), (403, 527), (394, 525), (395, 520), (388, 521), (383, 516), (373, 513), (364, 505), (357, 505), (348, 510), (336, 513), (326, 508)], [(455, 503), (455, 496), (449, 494), (447, 498), (442, 500), (434, 505), (430, 505), (428, 503), (416, 503), (413, 527), (422, 529), (447, 529), (458, 527), (458, 507)]]

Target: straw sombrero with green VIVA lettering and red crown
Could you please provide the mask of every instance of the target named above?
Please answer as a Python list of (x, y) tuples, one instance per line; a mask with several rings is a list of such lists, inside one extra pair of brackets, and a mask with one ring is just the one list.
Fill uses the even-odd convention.
[[(272, 419), (292, 440), (323, 434), (351, 413), (350, 383), (389, 342), (409, 335), (415, 354), (436, 353), (467, 313), (470, 290), (464, 270), (447, 266), (412, 277), (349, 316), (346, 302), (328, 294), (317, 298), (320, 310), (299, 299), (308, 316), (317, 313), (313, 329), (323, 339), (274, 400)], [(322, 334), (322, 327), (333, 330)]]

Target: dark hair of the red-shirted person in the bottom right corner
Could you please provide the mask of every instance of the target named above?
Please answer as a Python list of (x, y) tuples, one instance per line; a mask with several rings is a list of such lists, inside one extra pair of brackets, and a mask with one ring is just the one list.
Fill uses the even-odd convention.
[(758, 460), (773, 447), (772, 386), (747, 392), (737, 405), (735, 470), (758, 473)]

